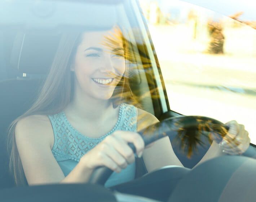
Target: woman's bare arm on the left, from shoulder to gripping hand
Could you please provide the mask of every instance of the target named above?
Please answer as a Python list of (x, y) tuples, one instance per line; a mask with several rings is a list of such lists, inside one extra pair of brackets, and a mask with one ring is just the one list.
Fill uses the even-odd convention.
[(48, 183), (86, 183), (93, 170), (106, 166), (120, 172), (144, 150), (144, 141), (136, 132), (116, 130), (81, 157), (65, 177), (53, 156), (54, 134), (47, 116), (33, 115), (20, 120), (16, 126), (16, 144), (29, 185)]

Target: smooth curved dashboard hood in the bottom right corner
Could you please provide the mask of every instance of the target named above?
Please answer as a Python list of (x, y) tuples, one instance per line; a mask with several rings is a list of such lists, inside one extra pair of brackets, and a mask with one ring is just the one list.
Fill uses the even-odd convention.
[(173, 190), (169, 202), (254, 202), (256, 160), (221, 156), (192, 169)]

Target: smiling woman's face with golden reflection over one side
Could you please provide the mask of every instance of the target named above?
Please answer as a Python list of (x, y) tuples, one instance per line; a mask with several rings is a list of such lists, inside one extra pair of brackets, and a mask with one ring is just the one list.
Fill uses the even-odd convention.
[(75, 72), (75, 87), (93, 98), (109, 99), (125, 71), (122, 40), (110, 44), (114, 30), (86, 32), (82, 36), (71, 70)]

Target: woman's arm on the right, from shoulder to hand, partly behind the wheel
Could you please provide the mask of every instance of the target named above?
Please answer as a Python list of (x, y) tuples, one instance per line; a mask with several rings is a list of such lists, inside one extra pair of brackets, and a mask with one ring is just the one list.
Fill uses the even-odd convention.
[[(138, 109), (138, 131), (157, 122), (159, 122), (159, 120), (154, 115)], [(250, 138), (248, 137), (247, 130), (244, 129), (244, 125), (238, 124), (236, 121), (229, 121), (226, 124), (230, 126), (230, 129), (228, 135), (226, 135), (226, 138), (222, 141), (222, 146), (220, 147), (218, 143), (213, 141), (208, 151), (197, 165), (214, 157), (224, 155), (222, 150), (231, 155), (243, 153), (247, 150), (250, 145)], [(143, 153), (143, 159), (149, 172), (166, 165), (183, 166), (175, 155), (168, 137), (161, 138), (154, 142), (153, 146), (146, 148)]]

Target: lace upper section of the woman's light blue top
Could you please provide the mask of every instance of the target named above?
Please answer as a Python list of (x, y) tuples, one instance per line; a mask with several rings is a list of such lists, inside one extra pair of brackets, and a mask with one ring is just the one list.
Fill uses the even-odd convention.
[(79, 133), (69, 123), (64, 112), (49, 115), (49, 119), (54, 132), (53, 155), (75, 161), (79, 161), (85, 153), (115, 130), (137, 131), (137, 108), (128, 104), (120, 105), (115, 127), (100, 138), (90, 138)]

